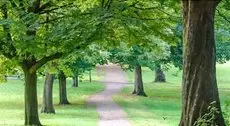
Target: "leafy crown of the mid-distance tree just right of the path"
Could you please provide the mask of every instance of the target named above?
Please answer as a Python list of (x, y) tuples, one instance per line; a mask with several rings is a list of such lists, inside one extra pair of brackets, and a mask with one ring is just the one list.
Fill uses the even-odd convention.
[(158, 38), (151, 37), (151, 39), (149, 44), (151, 46), (148, 48), (139, 45), (129, 47), (122, 43), (119, 48), (109, 51), (111, 53), (110, 61), (119, 63), (123, 69), (128, 70), (132, 70), (137, 65), (153, 68), (155, 61), (169, 56), (169, 47)]

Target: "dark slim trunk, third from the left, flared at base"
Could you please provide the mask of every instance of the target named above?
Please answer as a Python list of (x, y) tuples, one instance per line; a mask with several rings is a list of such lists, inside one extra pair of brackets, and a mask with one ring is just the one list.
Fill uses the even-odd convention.
[(67, 93), (66, 93), (66, 76), (63, 71), (60, 71), (59, 73), (59, 104), (60, 105), (66, 105), (70, 104), (67, 99)]

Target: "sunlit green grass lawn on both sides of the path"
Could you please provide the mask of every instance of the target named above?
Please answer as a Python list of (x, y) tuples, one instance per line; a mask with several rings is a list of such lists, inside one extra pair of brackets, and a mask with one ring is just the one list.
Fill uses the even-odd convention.
[[(166, 83), (154, 83), (154, 72), (143, 68), (145, 92), (148, 97), (138, 97), (131, 94), (133, 90), (133, 73), (126, 72), (129, 83), (118, 95), (113, 96), (121, 108), (127, 113), (127, 118), (133, 126), (177, 126), (181, 114), (181, 72), (178, 76), (176, 68), (166, 71)], [(87, 99), (104, 90), (104, 85), (98, 82), (104, 73), (97, 76), (93, 72), (93, 81), (87, 81), (87, 75), (78, 88), (71, 87), (68, 80), (68, 99), (71, 105), (58, 105), (58, 83), (54, 84), (54, 104), (56, 114), (40, 114), (40, 120), (45, 125), (52, 126), (96, 126), (99, 114), (96, 107), (87, 107)], [(224, 112), (225, 105), (230, 101), (230, 62), (217, 65), (217, 81), (220, 99)], [(39, 109), (41, 108), (43, 79), (38, 80)], [(10, 80), (0, 84), (0, 125), (23, 125), (24, 120), (24, 86), (21, 80)]]

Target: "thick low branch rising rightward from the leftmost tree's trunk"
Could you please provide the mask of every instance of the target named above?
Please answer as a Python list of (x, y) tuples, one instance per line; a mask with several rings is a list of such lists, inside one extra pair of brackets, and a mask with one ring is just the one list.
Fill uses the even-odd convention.
[(35, 72), (36, 70), (38, 70), (40, 67), (42, 67), (44, 64), (46, 64), (47, 62), (49, 61), (52, 61), (52, 60), (55, 60), (55, 59), (58, 59), (58, 58), (61, 58), (63, 55), (63, 53), (60, 53), (60, 52), (57, 52), (55, 54), (52, 54), (52, 55), (49, 55), (49, 56), (45, 56), (43, 57), (42, 59), (38, 60), (35, 65), (33, 65), (29, 72), (30, 73), (33, 73)]

